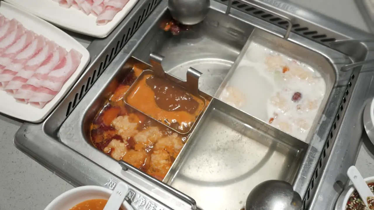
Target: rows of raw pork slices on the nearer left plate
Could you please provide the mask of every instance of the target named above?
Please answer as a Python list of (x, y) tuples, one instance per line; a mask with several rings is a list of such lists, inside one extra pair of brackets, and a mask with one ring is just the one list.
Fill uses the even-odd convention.
[[(74, 0), (55, 0), (66, 7)], [(92, 7), (94, 1), (84, 1)], [(78, 4), (77, 4), (78, 6)], [(83, 7), (82, 7), (83, 8)], [(91, 10), (90, 10), (91, 11)], [(16, 101), (43, 108), (76, 71), (82, 55), (0, 14), (0, 89)], [(44, 87), (46, 86), (46, 87)]]

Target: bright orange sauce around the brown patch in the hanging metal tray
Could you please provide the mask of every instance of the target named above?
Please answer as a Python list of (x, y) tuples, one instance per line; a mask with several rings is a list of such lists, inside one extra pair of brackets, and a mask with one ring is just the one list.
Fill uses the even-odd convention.
[[(161, 98), (156, 95), (153, 89), (147, 84), (147, 80), (153, 78), (154, 76), (151, 74), (143, 75), (140, 80), (138, 80), (138, 83), (136, 84), (135, 88), (132, 88), (130, 90), (128, 97), (126, 98), (126, 101), (129, 105), (133, 106), (135, 109), (138, 109), (139, 111), (143, 112), (146, 115), (149, 115), (150, 117), (153, 117), (154, 119), (160, 121), (161, 123), (172, 127), (175, 130), (178, 130), (182, 133), (187, 133), (191, 129), (193, 123), (196, 121), (196, 118), (200, 115), (202, 110), (204, 109), (205, 102), (200, 99), (197, 96), (191, 95), (184, 91), (179, 86), (174, 86), (171, 84), (171, 82), (167, 81), (166, 79), (160, 78), (159, 80), (164, 80), (164, 83), (162, 84), (165, 87), (162, 87), (162, 89), (180, 89), (179, 92), (184, 92), (184, 95), (190, 96), (191, 99), (193, 99), (194, 103), (185, 102), (188, 103), (185, 106), (188, 106), (189, 104), (195, 105), (196, 109), (193, 109), (192, 113), (191, 111), (186, 111), (181, 109), (176, 109), (175, 111), (169, 111), (165, 110), (165, 108), (160, 108), (159, 105), (157, 105), (157, 98)], [(165, 92), (163, 92), (165, 93)], [(167, 93), (166, 93), (167, 94)], [(156, 97), (155, 97), (156, 96)], [(165, 96), (163, 95), (162, 98), (168, 97), (169, 101), (175, 100), (177, 101), (178, 96), (177, 95), (171, 95), (171, 96)], [(186, 98), (186, 97), (184, 97)], [(171, 102), (169, 102), (171, 103)], [(174, 104), (177, 104), (178, 102), (175, 102)]]

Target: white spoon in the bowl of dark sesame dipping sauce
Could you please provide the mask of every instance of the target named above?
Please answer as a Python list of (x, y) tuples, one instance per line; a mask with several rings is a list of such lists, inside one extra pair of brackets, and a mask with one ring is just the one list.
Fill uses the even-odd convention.
[(353, 185), (355, 186), (362, 201), (369, 208), (368, 198), (373, 198), (374, 195), (373, 192), (371, 192), (367, 183), (364, 181), (364, 178), (362, 178), (360, 172), (357, 170), (356, 166), (349, 167), (347, 175), (349, 179), (352, 181)]

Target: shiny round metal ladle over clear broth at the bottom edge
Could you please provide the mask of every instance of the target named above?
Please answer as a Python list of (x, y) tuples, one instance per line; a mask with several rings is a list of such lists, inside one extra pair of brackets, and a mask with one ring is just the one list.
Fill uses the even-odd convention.
[(292, 185), (280, 180), (258, 184), (249, 193), (245, 210), (300, 210), (302, 201)]

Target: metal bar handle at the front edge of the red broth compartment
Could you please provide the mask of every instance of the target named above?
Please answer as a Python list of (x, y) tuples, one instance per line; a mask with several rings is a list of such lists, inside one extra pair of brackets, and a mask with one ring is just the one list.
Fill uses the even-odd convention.
[(196, 201), (189, 197), (188, 195), (185, 195), (183, 194), (182, 192), (178, 191), (177, 189), (174, 189), (172, 188), (171, 186), (169, 185), (166, 185), (165, 183), (151, 177), (151, 176), (148, 176), (146, 175), (145, 173), (141, 172), (140, 170), (138, 170), (137, 168), (135, 168), (134, 166), (132, 166), (131, 164), (128, 164), (126, 163), (125, 161), (123, 160), (120, 160), (118, 161), (118, 163), (120, 164), (120, 166), (122, 167), (123, 170), (131, 170), (132, 172), (136, 173), (137, 175), (140, 175), (141, 177), (143, 177), (145, 180), (157, 185), (158, 187), (176, 195), (178, 198), (186, 201), (188, 204), (191, 205), (191, 209), (192, 210), (197, 210), (197, 206), (196, 206)]

